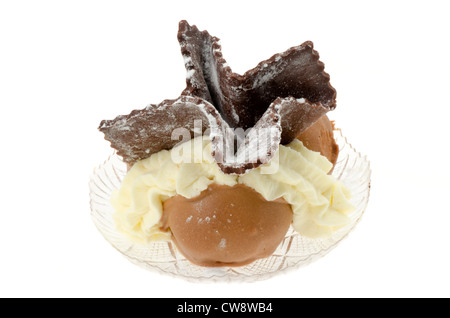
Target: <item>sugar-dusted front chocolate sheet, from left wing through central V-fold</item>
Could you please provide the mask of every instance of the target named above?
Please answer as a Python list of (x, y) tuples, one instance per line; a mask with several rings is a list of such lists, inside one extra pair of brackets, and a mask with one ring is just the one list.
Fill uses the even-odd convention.
[[(234, 148), (240, 136), (213, 105), (198, 97), (181, 96), (159, 105), (149, 105), (129, 115), (104, 120), (99, 129), (129, 165), (161, 150), (172, 149), (180, 143), (180, 136), (185, 141), (205, 133), (211, 139), (212, 156), (222, 171), (243, 174), (268, 162), (278, 150), (281, 135), (279, 108), (271, 107), (263, 119), (243, 137), (242, 142), (238, 142), (240, 147), (237, 151)], [(275, 130), (267, 134), (267, 128)], [(185, 136), (186, 132), (189, 136)], [(259, 143), (253, 142), (255, 136), (260, 137)], [(261, 136), (267, 138), (263, 140)], [(270, 142), (267, 142), (268, 138), (271, 138)]]

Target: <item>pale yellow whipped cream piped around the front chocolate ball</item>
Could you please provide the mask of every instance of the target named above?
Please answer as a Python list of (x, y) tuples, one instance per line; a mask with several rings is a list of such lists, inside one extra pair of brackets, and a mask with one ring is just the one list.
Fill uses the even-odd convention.
[(347, 225), (354, 210), (349, 190), (328, 175), (332, 167), (320, 153), (294, 140), (280, 145), (268, 164), (244, 175), (228, 175), (214, 161), (209, 138), (197, 137), (137, 162), (112, 195), (114, 219), (132, 241), (168, 240), (170, 233), (160, 230), (165, 200), (196, 197), (212, 183), (241, 183), (268, 201), (284, 198), (292, 206), (293, 227), (299, 234), (325, 238)]

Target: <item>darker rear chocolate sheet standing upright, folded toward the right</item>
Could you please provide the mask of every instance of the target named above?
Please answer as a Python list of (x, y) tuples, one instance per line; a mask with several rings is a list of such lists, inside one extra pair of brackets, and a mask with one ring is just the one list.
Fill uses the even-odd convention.
[(271, 103), (287, 98), (278, 101), (285, 144), (336, 107), (336, 91), (312, 42), (275, 54), (239, 75), (227, 66), (219, 39), (207, 31), (181, 21), (178, 40), (187, 70), (182, 94), (208, 100), (233, 128), (255, 126)]

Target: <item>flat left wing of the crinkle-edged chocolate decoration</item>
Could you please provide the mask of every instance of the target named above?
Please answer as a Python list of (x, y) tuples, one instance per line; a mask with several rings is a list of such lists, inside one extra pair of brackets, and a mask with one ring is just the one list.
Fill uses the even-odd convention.
[[(208, 115), (216, 109), (203, 99), (182, 96), (176, 100), (165, 100), (158, 105), (149, 105), (134, 110), (129, 115), (103, 120), (99, 130), (111, 147), (128, 164), (150, 157), (161, 150), (172, 149), (179, 139), (172, 139), (175, 129), (186, 129), (190, 138), (195, 135), (196, 123), (201, 132), (209, 128)], [(216, 114), (218, 116), (218, 114)], [(197, 121), (197, 122), (196, 122)], [(197, 124), (198, 125), (198, 124)]]

